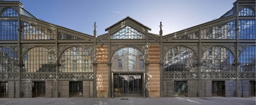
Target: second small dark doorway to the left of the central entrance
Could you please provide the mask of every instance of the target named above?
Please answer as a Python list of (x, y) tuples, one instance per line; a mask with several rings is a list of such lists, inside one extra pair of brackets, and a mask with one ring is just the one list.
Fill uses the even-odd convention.
[(45, 97), (45, 82), (32, 82), (32, 97)]

